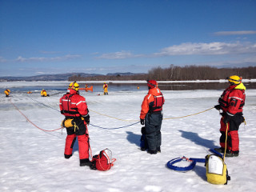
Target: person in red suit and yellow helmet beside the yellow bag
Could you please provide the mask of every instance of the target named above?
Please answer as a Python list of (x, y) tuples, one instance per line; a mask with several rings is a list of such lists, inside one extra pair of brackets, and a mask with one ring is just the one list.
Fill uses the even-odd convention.
[(232, 75), (227, 78), (230, 86), (224, 90), (222, 96), (218, 99), (218, 105), (214, 106), (217, 110), (222, 110), (221, 118), (221, 137), (220, 148), (215, 148), (220, 153), (224, 153), (226, 142), (226, 123), (228, 124), (226, 157), (237, 157), (239, 154), (238, 129), (244, 117), (242, 116), (242, 107), (246, 101), (246, 87), (242, 84), (242, 78)]

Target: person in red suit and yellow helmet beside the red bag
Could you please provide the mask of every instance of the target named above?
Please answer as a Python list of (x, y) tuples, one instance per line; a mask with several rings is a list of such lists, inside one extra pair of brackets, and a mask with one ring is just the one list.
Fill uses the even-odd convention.
[(86, 98), (79, 95), (79, 85), (77, 82), (71, 82), (67, 93), (59, 100), (59, 107), (61, 113), (65, 115), (65, 122), (71, 120), (71, 126), (66, 127), (66, 146), (64, 157), (70, 158), (72, 156), (73, 146), (78, 137), (78, 152), (80, 159), (80, 166), (90, 166), (89, 160), (89, 134), (87, 126), (90, 123), (89, 110), (86, 104)]

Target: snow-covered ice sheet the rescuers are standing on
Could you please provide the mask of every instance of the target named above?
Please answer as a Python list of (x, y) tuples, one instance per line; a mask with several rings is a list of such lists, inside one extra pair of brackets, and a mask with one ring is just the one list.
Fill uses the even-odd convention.
[[(26, 83), (30, 82), (19, 82), (16, 86)], [(10, 84), (14, 85), (14, 82)], [(9, 88), (8, 82), (4, 86)], [(166, 103), (163, 106), (165, 119), (162, 121), (161, 154), (147, 154), (139, 150), (142, 126), (139, 123), (129, 126), (139, 121), (146, 90), (109, 91), (106, 96), (81, 91), (90, 110), (92, 155), (108, 148), (117, 159), (108, 171), (79, 166), (78, 143), (74, 145), (74, 155), (70, 159), (64, 158), (66, 130), (56, 129), (61, 127), (64, 118), (58, 111), (58, 99), (65, 91), (50, 90), (47, 93), (50, 97), (42, 98), (40, 92), (30, 95), (11, 92), (10, 98), (1, 94), (1, 191), (239, 192), (253, 191), (256, 187), (256, 90), (246, 90), (246, 126), (242, 124), (239, 129), (240, 154), (238, 158), (226, 158), (231, 180), (225, 186), (206, 181), (204, 163), (198, 162), (193, 170), (186, 173), (166, 167), (166, 162), (173, 158), (205, 158), (210, 154), (210, 148), (219, 146), (218, 110), (186, 118), (176, 117), (212, 108), (222, 90), (162, 91)], [(127, 127), (113, 129), (122, 126)]]

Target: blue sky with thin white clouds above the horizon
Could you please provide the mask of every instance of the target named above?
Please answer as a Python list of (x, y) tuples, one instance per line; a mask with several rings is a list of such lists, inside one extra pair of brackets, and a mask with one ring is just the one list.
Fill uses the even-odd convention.
[(0, 0), (0, 76), (256, 66), (256, 0)]

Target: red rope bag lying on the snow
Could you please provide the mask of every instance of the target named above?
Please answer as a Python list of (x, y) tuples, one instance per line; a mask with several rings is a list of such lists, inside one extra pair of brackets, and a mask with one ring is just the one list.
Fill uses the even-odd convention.
[(115, 158), (112, 158), (112, 152), (109, 149), (102, 150), (99, 154), (94, 155), (92, 163), (90, 165), (91, 170), (110, 170), (111, 166), (114, 166), (113, 162)]

